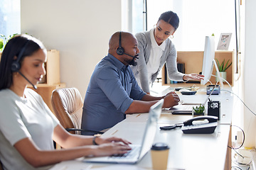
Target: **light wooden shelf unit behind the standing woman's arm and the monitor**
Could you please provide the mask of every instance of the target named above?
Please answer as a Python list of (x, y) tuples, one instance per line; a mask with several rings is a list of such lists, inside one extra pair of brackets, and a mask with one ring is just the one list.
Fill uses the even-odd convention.
[[(234, 52), (233, 51), (216, 51), (215, 58), (218, 59), (219, 62), (230, 60), (233, 62), (232, 67), (226, 70), (227, 72), (227, 81), (232, 86), (234, 84)], [(177, 62), (184, 63), (185, 65), (185, 73), (191, 74), (202, 72), (203, 66), (203, 51), (178, 51), (177, 52)], [(216, 69), (213, 66), (213, 75), (215, 75)], [(166, 71), (165, 66), (162, 69), (162, 84), (169, 85), (169, 82), (166, 84)], [(215, 77), (210, 77), (210, 81), (215, 84)], [(223, 81), (225, 84), (225, 82)]]

